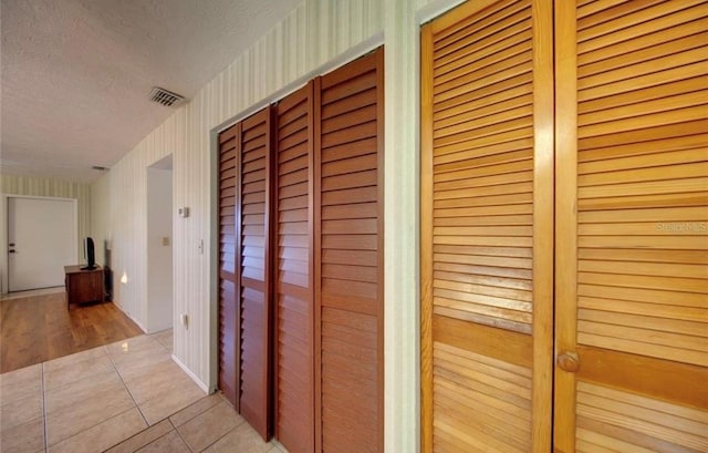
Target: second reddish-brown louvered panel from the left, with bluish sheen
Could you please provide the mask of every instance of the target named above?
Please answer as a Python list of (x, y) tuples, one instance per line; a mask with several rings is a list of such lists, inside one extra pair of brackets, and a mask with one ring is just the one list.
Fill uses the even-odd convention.
[(270, 107), (240, 124), (239, 230), (241, 415), (268, 440), (271, 420)]

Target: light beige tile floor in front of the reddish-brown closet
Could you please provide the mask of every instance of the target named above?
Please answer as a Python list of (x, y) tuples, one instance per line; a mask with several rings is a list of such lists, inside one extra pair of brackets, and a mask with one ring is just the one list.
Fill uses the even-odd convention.
[(282, 453), (171, 360), (171, 331), (0, 374), (2, 453)]

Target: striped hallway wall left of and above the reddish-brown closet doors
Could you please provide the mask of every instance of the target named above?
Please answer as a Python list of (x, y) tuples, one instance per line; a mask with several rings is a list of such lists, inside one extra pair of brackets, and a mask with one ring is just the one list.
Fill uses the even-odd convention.
[(101, 213), (104, 219), (96, 219), (104, 229), (95, 236), (110, 238), (113, 247), (115, 299), (146, 326), (147, 167), (173, 154), (175, 206), (190, 208), (188, 218), (173, 224), (175, 317), (190, 319), (188, 328), (174, 326), (175, 358), (205, 389), (216, 379), (211, 131), (284, 86), (304, 82), (314, 69), (382, 29), (379, 1), (304, 1), (94, 183), (95, 204), (108, 207)]

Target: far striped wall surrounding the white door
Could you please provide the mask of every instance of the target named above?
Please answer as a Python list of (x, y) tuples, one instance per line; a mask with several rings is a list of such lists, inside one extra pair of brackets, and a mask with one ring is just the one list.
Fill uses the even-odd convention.
[[(91, 234), (91, 194), (92, 186), (90, 184), (72, 183), (69, 181), (34, 177), (34, 176), (15, 176), (15, 175), (0, 175), (0, 193), (4, 195), (33, 195), (42, 197), (59, 197), (59, 198), (74, 198), (79, 207), (79, 237), (76, 244), (79, 249), (76, 256), (83, 257), (83, 238)], [(4, 218), (7, 212), (3, 210), (2, 217)], [(4, 288), (4, 281), (7, 277), (7, 244), (6, 244), (6, 228), (7, 222), (3, 222), (0, 226), (0, 238), (2, 238), (2, 245), (0, 245), (0, 254), (4, 259), (0, 260), (0, 275), (2, 277), (2, 291), (7, 291)], [(101, 262), (101, 261), (98, 261)]]

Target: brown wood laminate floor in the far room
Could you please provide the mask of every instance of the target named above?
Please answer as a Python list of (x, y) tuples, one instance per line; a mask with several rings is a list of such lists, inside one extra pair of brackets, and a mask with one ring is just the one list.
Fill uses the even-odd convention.
[(142, 334), (113, 302), (72, 306), (64, 291), (0, 301), (0, 373)]

